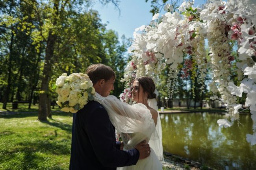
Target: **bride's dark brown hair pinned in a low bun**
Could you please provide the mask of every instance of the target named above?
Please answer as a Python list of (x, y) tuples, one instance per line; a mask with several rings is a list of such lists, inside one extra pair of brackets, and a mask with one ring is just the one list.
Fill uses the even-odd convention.
[(148, 99), (156, 98), (156, 93), (154, 93), (154, 91), (156, 90), (156, 86), (154, 81), (150, 77), (136, 77), (135, 80), (139, 81), (139, 86), (143, 88), (144, 93), (148, 93)]

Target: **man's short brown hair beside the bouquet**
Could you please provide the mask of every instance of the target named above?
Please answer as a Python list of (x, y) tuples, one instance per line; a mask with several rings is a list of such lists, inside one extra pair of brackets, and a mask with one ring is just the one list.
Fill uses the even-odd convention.
[(104, 64), (92, 64), (86, 69), (86, 74), (89, 76), (90, 80), (95, 84), (100, 79), (106, 81), (110, 79), (115, 79), (115, 72), (109, 66)]

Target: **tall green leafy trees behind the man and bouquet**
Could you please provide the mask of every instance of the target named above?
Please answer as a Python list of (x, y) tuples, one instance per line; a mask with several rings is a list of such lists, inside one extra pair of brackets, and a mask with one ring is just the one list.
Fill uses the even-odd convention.
[[(61, 5), (54, 6), (58, 2)], [(100, 2), (113, 3), (117, 8), (119, 4), (118, 0)], [(123, 90), (119, 80), (126, 64), (123, 55), (129, 43), (125, 37), (120, 43), (115, 31), (106, 30), (98, 12), (89, 10), (91, 3), (90, 0), (0, 2), (0, 101), (37, 102), (40, 94), (56, 101), (52, 84), (59, 75), (84, 73), (89, 65), (96, 63), (113, 66), (117, 72), (113, 94), (119, 96)], [(50, 48), (53, 54), (47, 58)], [(43, 82), (48, 88), (41, 89)]]

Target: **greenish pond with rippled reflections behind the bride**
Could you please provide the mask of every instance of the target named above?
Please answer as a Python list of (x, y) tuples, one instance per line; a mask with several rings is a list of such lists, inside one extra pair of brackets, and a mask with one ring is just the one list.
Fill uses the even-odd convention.
[(217, 170), (256, 170), (256, 145), (250, 146), (250, 115), (240, 115), (240, 124), (221, 128), (221, 113), (161, 114), (163, 150), (198, 161)]

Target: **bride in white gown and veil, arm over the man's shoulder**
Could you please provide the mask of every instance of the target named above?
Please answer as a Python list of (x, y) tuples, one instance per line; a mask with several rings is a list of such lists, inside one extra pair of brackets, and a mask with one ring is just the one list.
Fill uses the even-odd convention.
[(150, 155), (140, 159), (136, 165), (117, 170), (162, 170), (163, 161), (162, 130), (157, 112), (156, 87), (150, 77), (136, 78), (132, 89), (132, 99), (137, 104), (129, 105), (115, 96), (102, 97), (95, 94), (95, 101), (107, 110), (111, 123), (121, 133), (124, 150), (134, 148), (146, 140), (151, 148)]

